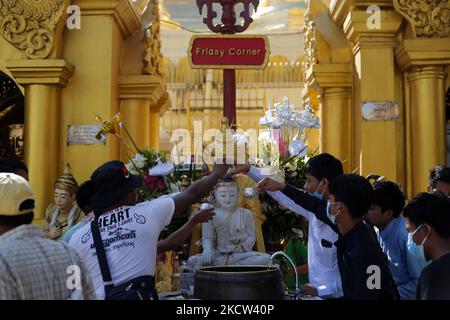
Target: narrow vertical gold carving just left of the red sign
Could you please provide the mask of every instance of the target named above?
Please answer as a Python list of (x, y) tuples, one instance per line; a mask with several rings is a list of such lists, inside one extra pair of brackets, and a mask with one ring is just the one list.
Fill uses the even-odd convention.
[(161, 54), (161, 40), (159, 36), (159, 1), (150, 0), (153, 6), (153, 23), (145, 36), (146, 49), (144, 57), (144, 74), (163, 76), (163, 57)]

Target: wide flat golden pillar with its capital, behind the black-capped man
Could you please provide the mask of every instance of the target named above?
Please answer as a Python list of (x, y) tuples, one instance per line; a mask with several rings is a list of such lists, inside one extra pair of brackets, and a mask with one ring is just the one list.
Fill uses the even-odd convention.
[[(131, 38), (140, 16), (129, 0), (74, 0), (81, 9), (81, 29), (65, 30), (64, 57), (77, 72), (63, 91), (61, 127), (98, 124), (96, 115), (110, 119), (120, 111), (119, 75), (142, 69), (142, 50), (127, 51), (139, 40)], [(136, 57), (135, 56), (139, 56)], [(135, 61), (141, 62), (134, 67)], [(63, 130), (63, 137), (67, 130)], [(102, 163), (120, 159), (119, 141), (109, 135), (105, 144), (67, 145), (61, 139), (61, 162), (70, 162), (74, 176), (83, 182)], [(88, 156), (86, 156), (88, 155)]]

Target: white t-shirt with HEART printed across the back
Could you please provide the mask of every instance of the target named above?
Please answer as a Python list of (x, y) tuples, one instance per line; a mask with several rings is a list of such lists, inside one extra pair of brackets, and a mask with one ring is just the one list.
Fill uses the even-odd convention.
[[(154, 276), (159, 234), (170, 223), (174, 211), (173, 199), (164, 198), (122, 206), (99, 217), (100, 234), (115, 285), (140, 276)], [(90, 270), (97, 297), (104, 299), (103, 278), (91, 224), (80, 228), (69, 245), (75, 248)]]

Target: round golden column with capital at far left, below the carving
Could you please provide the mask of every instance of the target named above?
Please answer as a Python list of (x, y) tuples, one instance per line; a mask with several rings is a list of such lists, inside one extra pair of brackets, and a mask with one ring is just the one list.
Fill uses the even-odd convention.
[(64, 60), (9, 60), (7, 68), (25, 88), (25, 162), (36, 197), (35, 221), (45, 220), (60, 163), (61, 90), (74, 67)]

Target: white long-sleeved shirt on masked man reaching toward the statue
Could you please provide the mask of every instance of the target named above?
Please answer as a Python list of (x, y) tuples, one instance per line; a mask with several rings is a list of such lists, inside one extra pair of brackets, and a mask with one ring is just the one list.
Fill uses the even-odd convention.
[[(250, 168), (248, 175), (255, 181), (263, 179), (259, 169), (255, 167)], [(338, 239), (338, 234), (328, 225), (318, 220), (314, 213), (305, 210), (281, 191), (268, 191), (267, 193), (279, 204), (305, 217), (309, 222), (309, 283), (317, 288), (320, 297), (342, 297), (344, 294), (342, 292), (341, 275), (337, 263), (336, 246), (334, 245), (334, 242)], [(331, 244), (331, 247), (325, 247), (322, 243)]]

